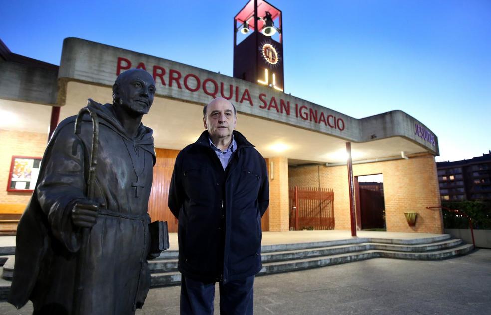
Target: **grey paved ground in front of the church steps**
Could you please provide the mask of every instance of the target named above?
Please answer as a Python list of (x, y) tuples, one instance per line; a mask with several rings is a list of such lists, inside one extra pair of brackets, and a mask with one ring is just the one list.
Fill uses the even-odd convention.
[[(491, 315), (491, 250), (443, 261), (376, 258), (262, 276), (254, 288), (255, 315)], [(137, 315), (179, 314), (179, 290), (151, 289)], [(31, 304), (15, 310), (0, 303), (0, 314), (31, 312)]]

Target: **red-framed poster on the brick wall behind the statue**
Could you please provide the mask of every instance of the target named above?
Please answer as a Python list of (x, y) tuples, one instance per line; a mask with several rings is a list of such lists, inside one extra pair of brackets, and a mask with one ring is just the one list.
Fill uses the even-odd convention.
[(33, 192), (41, 167), (40, 157), (13, 156), (7, 191)]

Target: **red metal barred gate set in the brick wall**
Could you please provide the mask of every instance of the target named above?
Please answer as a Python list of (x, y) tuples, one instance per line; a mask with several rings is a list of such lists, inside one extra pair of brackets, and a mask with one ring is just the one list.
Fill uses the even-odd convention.
[(334, 192), (328, 188), (289, 189), (290, 230), (333, 230)]

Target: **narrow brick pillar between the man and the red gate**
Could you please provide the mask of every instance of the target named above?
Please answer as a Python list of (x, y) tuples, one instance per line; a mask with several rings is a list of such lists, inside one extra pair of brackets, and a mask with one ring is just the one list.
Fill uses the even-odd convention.
[[(288, 158), (268, 158), (273, 163), (269, 170), (269, 231), (288, 231)], [(271, 165), (271, 164), (270, 164)]]

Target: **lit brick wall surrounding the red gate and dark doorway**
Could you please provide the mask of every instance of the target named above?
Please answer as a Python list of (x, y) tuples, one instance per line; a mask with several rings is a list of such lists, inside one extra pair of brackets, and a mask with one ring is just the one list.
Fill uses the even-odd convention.
[[(332, 188), (335, 229), (349, 230), (349, 190), (346, 166), (289, 167), (289, 186)], [(440, 205), (435, 158), (430, 154), (409, 160), (353, 165), (354, 176), (382, 174), (387, 231), (443, 233), (440, 211), (425, 209)], [(418, 213), (416, 226), (409, 227), (404, 212)]]

